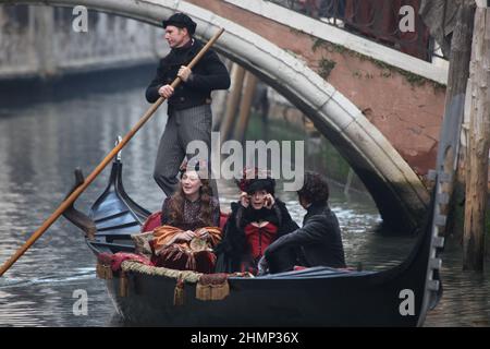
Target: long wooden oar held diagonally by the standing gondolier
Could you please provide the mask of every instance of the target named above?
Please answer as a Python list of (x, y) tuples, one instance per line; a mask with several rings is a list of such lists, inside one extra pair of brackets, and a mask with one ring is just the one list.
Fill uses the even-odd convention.
[[(223, 34), (224, 28), (220, 28), (218, 33), (200, 49), (200, 51), (194, 57), (191, 63), (187, 65), (193, 69), (194, 65), (201, 59), (201, 57), (209, 50), (215, 41)], [(181, 83), (181, 79), (176, 77), (172, 82), (172, 87), (175, 88)], [(87, 186), (99, 176), (99, 173), (106, 168), (106, 166), (118, 155), (118, 153), (126, 145), (127, 142), (138, 132), (138, 130), (151, 118), (157, 111), (158, 107), (166, 100), (164, 97), (158, 98), (158, 100), (146, 111), (146, 113), (139, 119), (139, 121), (131, 129), (131, 131), (122, 139), (122, 141), (106, 156), (106, 158), (95, 168), (95, 170), (85, 179), (85, 181), (68, 196), (61, 205), (52, 213), (52, 215), (39, 227), (30, 238), (20, 248), (14, 255), (7, 261), (0, 268), (0, 276), (2, 276), (24, 253), (27, 251), (37, 239), (63, 214), (63, 212), (70, 207), (71, 204), (87, 189)]]

